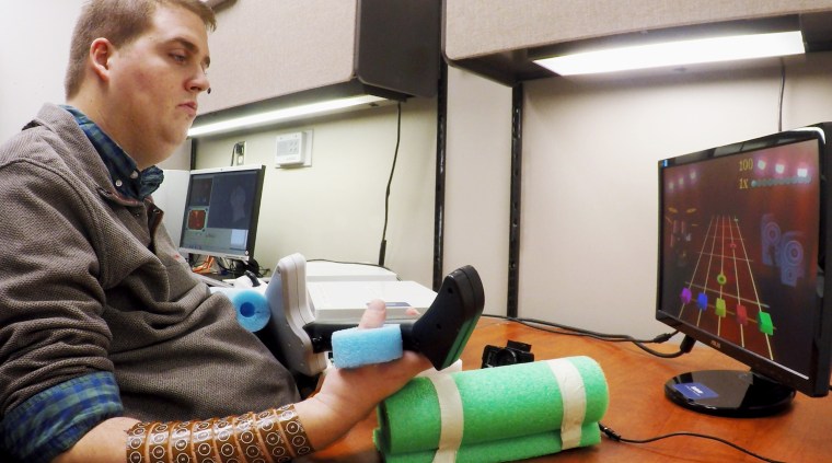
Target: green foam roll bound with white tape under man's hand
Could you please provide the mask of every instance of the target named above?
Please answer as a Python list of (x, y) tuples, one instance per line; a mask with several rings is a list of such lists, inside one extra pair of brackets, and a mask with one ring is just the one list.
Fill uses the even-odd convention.
[[(444, 374), (459, 394), (459, 409), (448, 400), (454, 394), (447, 385), (440, 394), (428, 378), (414, 379), (381, 403), (374, 440), (385, 460), (432, 461), (443, 432), (442, 407), (453, 417), (446, 432), (451, 421), (461, 427), (459, 462), (532, 458), (600, 441), (597, 423), (606, 412), (609, 390), (603, 371), (589, 357)], [(568, 445), (563, 445), (562, 432), (568, 435)]]

